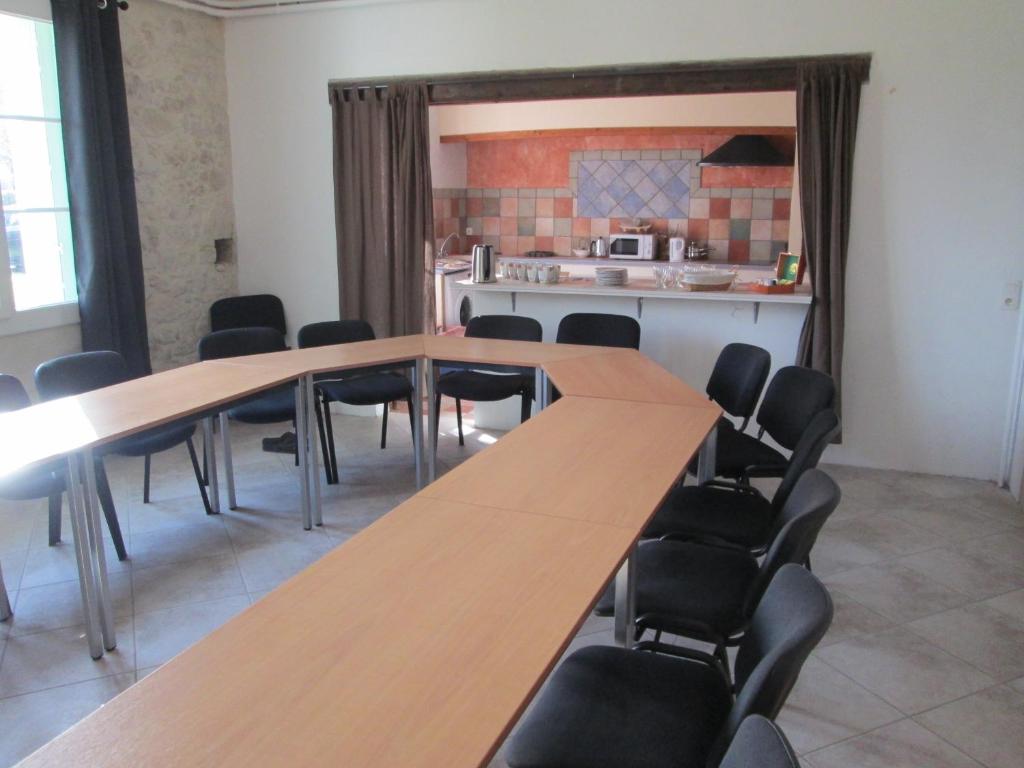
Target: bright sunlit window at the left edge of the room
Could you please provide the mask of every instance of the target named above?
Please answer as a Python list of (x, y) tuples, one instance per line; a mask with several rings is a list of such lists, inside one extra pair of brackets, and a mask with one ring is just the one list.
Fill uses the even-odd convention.
[(53, 25), (2, 5), (0, 214), (0, 317), (75, 302)]

